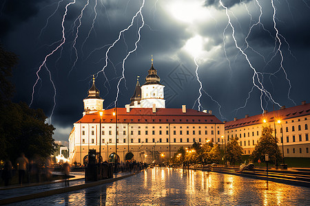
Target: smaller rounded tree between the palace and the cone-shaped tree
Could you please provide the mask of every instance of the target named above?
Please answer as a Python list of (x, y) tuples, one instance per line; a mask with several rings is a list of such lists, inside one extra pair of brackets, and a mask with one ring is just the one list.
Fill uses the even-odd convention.
[(231, 137), (230, 141), (228, 142), (226, 146), (226, 155), (225, 158), (232, 162), (233, 165), (235, 163), (240, 163), (241, 155), (242, 155), (242, 147), (238, 144), (238, 137)]

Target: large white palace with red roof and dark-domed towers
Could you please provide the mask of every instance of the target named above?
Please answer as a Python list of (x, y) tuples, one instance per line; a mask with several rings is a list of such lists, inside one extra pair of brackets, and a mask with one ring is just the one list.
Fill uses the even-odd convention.
[[(134, 95), (125, 108), (103, 108), (93, 80), (83, 100), (83, 117), (70, 133), (70, 162), (84, 164), (88, 151), (101, 153), (103, 161), (135, 159), (146, 163), (165, 161), (178, 148), (194, 142), (220, 143), (225, 124), (207, 112), (186, 108), (165, 108), (164, 85), (152, 66), (145, 84), (136, 82)], [(101, 152), (99, 152), (101, 150)]]

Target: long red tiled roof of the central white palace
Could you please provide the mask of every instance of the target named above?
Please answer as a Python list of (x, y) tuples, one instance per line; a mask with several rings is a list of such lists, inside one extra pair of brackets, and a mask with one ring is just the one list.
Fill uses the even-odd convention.
[[(115, 108), (103, 111), (101, 123), (115, 123)], [(76, 123), (99, 123), (99, 112), (86, 114)], [(216, 116), (187, 108), (186, 113), (182, 108), (156, 108), (156, 113), (152, 108), (130, 108), (130, 113), (126, 113), (126, 108), (117, 108), (117, 123), (178, 123), (178, 124), (224, 124)]]

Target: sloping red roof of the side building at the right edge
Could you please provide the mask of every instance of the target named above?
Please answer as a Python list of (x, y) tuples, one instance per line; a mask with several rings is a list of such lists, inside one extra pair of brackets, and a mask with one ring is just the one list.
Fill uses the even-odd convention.
[[(293, 106), (289, 108), (283, 108), (277, 111), (270, 111), (265, 114), (255, 115), (251, 117), (245, 117), (242, 119), (237, 119), (236, 121), (230, 121), (225, 123), (225, 130), (238, 128), (242, 126), (250, 126), (254, 124), (261, 124), (262, 119), (266, 119), (267, 122), (273, 122), (278, 119), (291, 119), (293, 117), (301, 117), (304, 115), (310, 115), (310, 104), (302, 104), (298, 106)], [(274, 119), (273, 119), (274, 118)]]

